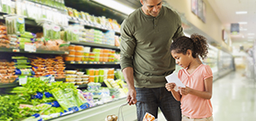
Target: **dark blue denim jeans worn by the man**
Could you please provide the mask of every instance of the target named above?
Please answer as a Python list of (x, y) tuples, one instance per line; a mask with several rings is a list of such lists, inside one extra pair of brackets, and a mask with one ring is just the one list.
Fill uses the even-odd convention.
[(157, 118), (158, 107), (168, 121), (181, 121), (180, 101), (176, 101), (171, 92), (162, 88), (136, 88), (137, 121), (143, 121), (146, 112)]

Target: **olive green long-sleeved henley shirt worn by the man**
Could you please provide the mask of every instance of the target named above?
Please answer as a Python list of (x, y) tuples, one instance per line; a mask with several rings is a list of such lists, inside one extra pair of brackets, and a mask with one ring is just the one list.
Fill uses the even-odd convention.
[(153, 17), (137, 9), (121, 25), (120, 66), (134, 70), (137, 88), (159, 88), (165, 77), (175, 70), (175, 60), (169, 50), (173, 38), (184, 36), (180, 16), (162, 6)]

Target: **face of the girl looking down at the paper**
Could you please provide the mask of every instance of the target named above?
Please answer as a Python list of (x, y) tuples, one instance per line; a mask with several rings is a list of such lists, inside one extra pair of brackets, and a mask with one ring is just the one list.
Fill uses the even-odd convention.
[(183, 55), (182, 53), (178, 54), (175, 50), (172, 50), (171, 53), (179, 66), (183, 68), (190, 66), (192, 53), (189, 49), (186, 51), (186, 55)]

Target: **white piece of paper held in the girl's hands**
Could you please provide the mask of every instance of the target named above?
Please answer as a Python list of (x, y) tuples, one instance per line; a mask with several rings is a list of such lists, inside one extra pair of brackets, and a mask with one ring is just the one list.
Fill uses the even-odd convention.
[(186, 88), (186, 86), (184, 84), (181, 83), (180, 79), (178, 78), (178, 76), (174, 73), (168, 75), (165, 77), (167, 80), (168, 80), (168, 83), (174, 83), (176, 84), (176, 86), (174, 87), (174, 90), (175, 91), (178, 91), (179, 87), (182, 87), (182, 88)]

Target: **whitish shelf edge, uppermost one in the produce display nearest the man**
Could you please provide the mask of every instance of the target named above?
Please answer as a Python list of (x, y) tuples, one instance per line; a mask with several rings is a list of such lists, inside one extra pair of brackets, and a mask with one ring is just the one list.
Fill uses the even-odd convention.
[(107, 26), (103, 26), (101, 24), (93, 23), (93, 22), (88, 21), (88, 20), (81, 20), (81, 19), (78, 19), (78, 18), (75, 18), (75, 17), (70, 17), (70, 16), (68, 16), (68, 18), (69, 18), (70, 23), (80, 24), (82, 26), (87, 26), (87, 27), (90, 27), (90, 28), (94, 28), (94, 29), (104, 31), (104, 32), (114, 31), (115, 34), (120, 35), (120, 32), (117, 32), (117, 31), (113, 30), (112, 28), (109, 28)]

